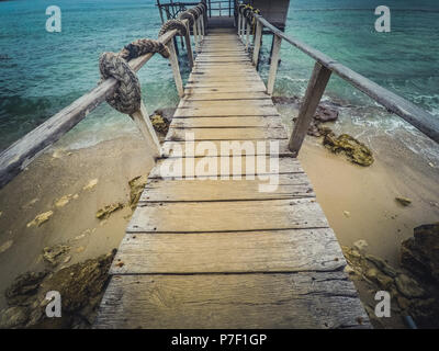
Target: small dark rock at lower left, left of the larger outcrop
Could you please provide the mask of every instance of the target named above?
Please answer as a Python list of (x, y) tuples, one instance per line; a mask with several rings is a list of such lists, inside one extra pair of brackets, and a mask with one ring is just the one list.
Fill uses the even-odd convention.
[(12, 285), (4, 292), (4, 296), (9, 305), (29, 305), (30, 296), (32, 296), (40, 287), (43, 279), (48, 271), (26, 272), (19, 275)]

